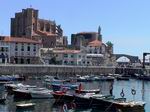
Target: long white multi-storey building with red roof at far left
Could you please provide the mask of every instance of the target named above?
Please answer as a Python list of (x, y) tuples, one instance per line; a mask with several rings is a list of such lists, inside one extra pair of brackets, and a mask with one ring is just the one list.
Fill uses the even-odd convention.
[(16, 64), (39, 63), (41, 42), (17, 37), (0, 36), (0, 62)]

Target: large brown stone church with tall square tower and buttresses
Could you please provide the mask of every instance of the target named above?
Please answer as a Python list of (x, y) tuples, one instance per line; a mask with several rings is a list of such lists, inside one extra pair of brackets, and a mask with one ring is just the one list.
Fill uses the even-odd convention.
[(63, 45), (63, 30), (55, 21), (40, 19), (38, 10), (23, 9), (11, 18), (11, 36), (42, 40), (43, 47)]

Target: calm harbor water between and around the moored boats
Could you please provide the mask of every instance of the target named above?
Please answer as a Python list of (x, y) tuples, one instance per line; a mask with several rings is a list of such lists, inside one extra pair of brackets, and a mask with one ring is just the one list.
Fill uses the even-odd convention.
[[(31, 84), (37, 86), (45, 86), (40, 79), (28, 79), (24, 84)], [(127, 100), (136, 100), (146, 102), (145, 110), (136, 110), (135, 112), (150, 112), (150, 81), (142, 81), (136, 79), (130, 79), (129, 81), (117, 81), (113, 83), (110, 81), (93, 81), (93, 82), (82, 82), (84, 88), (87, 89), (101, 89), (102, 94), (109, 94), (109, 87), (113, 84), (113, 95), (118, 98), (123, 89), (124, 97)], [(1, 85), (1, 93), (4, 92), (4, 86)], [(136, 94), (132, 95), (131, 89), (136, 90)], [(20, 102), (32, 102), (35, 103), (34, 108), (28, 109), (17, 109), (16, 104)], [(32, 100), (14, 100), (13, 95), (8, 95), (5, 103), (0, 104), (0, 112), (64, 112), (63, 105), (55, 103), (55, 99), (32, 99)], [(76, 109), (73, 108), (68, 112), (108, 112), (93, 109)], [(131, 112), (131, 111), (127, 111)]]

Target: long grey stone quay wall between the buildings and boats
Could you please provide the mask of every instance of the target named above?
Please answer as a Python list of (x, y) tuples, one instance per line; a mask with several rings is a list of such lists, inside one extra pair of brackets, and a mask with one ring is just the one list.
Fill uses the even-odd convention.
[[(149, 71), (149, 70), (148, 70)], [(22, 74), (22, 75), (75, 75), (75, 74), (134, 74), (141, 73), (141, 68), (122, 68), (108, 66), (67, 66), (67, 65), (0, 65), (0, 74)]]

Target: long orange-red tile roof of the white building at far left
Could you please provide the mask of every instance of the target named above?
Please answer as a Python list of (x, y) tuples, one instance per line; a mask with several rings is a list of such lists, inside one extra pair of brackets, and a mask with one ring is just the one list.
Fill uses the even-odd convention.
[(5, 42), (18, 42), (18, 43), (34, 43), (34, 44), (41, 44), (41, 41), (36, 41), (28, 38), (23, 38), (23, 37), (9, 37), (5, 36), (4, 40)]

